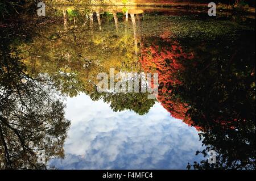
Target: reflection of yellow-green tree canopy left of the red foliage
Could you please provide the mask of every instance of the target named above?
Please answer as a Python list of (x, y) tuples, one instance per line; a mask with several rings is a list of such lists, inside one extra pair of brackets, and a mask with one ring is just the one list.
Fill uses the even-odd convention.
[[(76, 96), (85, 92), (94, 100), (111, 103), (114, 111), (133, 110), (144, 115), (155, 102), (147, 99), (147, 94), (98, 94), (94, 89), (97, 74), (108, 73), (110, 68), (139, 71), (134, 44), (130, 41), (133, 33), (125, 30), (117, 33), (115, 29), (96, 31), (83, 27), (83, 23), (79, 24), (77, 20), (76, 29), (68, 32), (61, 30), (63, 24), (46, 27), (36, 32), (31, 44), (19, 46), (28, 71), (31, 74), (47, 73), (63, 94)], [(56, 39), (51, 39), (51, 35)]]

